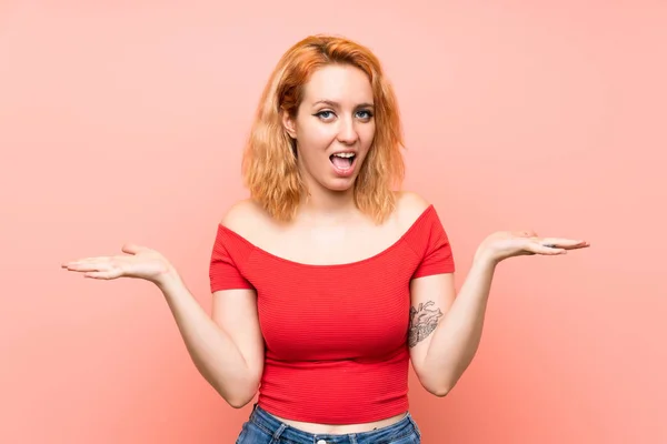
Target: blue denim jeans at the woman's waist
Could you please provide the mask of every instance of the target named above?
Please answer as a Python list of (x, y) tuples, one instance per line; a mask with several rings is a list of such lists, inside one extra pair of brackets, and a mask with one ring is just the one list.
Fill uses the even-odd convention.
[(398, 423), (371, 432), (312, 434), (291, 427), (257, 404), (236, 444), (419, 444), (421, 434), (408, 413)]

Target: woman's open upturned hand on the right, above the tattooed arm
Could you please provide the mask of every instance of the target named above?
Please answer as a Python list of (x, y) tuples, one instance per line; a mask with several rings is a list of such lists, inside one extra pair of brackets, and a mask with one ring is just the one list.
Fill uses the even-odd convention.
[(498, 263), (508, 258), (541, 254), (560, 255), (568, 250), (586, 249), (590, 244), (583, 240), (564, 238), (539, 238), (534, 231), (499, 231), (486, 238), (475, 259)]

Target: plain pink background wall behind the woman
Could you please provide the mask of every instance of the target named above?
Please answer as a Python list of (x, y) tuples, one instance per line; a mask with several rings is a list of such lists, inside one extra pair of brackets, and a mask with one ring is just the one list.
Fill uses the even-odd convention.
[[(209, 306), (216, 224), (269, 72), (309, 33), (384, 61), (460, 286), (492, 231), (586, 251), (499, 268), (425, 443), (665, 443), (665, 2), (0, 3), (0, 442), (231, 443), (235, 411), (146, 282), (62, 261), (152, 246)], [(326, 402), (326, 400), (313, 400)]]

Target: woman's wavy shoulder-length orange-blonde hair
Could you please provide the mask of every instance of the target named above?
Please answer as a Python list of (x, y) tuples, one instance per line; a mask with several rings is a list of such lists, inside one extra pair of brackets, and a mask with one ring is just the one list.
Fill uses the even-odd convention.
[(251, 198), (273, 219), (285, 222), (295, 216), (308, 190), (281, 113), (296, 117), (312, 72), (332, 63), (360, 69), (372, 88), (376, 132), (356, 179), (354, 196), (357, 208), (380, 223), (396, 206), (392, 186), (400, 186), (405, 178), (398, 104), (378, 58), (368, 48), (345, 38), (307, 37), (279, 60), (262, 92), (243, 151), (243, 182)]

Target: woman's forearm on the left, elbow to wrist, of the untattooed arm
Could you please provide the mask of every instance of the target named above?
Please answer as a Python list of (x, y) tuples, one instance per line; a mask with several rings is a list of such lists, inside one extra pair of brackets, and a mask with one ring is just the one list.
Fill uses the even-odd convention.
[(247, 404), (257, 391), (256, 377), (231, 337), (206, 313), (178, 273), (169, 273), (158, 287), (197, 370), (231, 406)]

